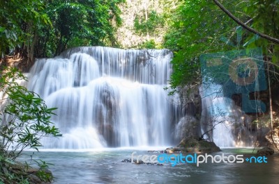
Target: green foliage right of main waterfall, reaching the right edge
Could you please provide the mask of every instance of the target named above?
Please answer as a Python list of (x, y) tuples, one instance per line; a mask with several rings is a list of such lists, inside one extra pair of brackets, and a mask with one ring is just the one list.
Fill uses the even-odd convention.
[[(279, 37), (278, 1), (222, 1), (242, 22), (273, 37)], [(230, 19), (213, 1), (181, 1), (172, 15), (171, 28), (164, 46), (174, 51), (172, 93), (181, 87), (199, 85), (202, 53), (262, 47), (264, 54), (278, 62), (278, 44), (257, 38), (248, 31), (238, 34), (239, 25)]]

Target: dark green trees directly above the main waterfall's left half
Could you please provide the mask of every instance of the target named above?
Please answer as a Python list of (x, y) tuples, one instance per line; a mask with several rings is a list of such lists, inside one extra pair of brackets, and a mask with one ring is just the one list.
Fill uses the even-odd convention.
[[(58, 55), (64, 49), (81, 45), (116, 45), (115, 26), (121, 24), (117, 4), (123, 0), (100, 1), (50, 1), (47, 15), (53, 29), (42, 28), (41, 38), (50, 47), (43, 55)], [(50, 32), (50, 33), (49, 33)]]

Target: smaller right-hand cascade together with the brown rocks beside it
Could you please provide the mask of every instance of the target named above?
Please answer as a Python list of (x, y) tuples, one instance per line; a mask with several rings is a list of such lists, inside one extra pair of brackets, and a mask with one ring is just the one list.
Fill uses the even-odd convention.
[(202, 133), (218, 147), (252, 147), (251, 117), (230, 98), (223, 97), (223, 86), (211, 83), (200, 87)]

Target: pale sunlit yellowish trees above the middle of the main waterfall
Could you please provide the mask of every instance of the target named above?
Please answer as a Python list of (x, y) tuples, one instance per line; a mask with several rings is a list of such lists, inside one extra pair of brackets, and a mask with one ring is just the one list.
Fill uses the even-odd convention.
[(178, 0), (126, 0), (120, 6), (123, 24), (116, 31), (122, 48), (161, 49), (168, 20)]

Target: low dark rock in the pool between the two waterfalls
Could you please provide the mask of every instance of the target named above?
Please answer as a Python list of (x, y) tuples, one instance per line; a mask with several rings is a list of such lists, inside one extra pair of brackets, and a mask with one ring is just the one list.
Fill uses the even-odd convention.
[(166, 151), (167, 153), (212, 153), (221, 150), (214, 142), (187, 137), (181, 140), (177, 147), (167, 148)]

